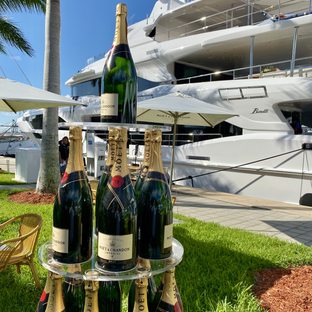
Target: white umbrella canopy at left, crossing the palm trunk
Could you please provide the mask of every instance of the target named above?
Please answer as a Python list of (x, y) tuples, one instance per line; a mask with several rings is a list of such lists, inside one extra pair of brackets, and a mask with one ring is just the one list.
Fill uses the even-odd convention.
[(81, 104), (49, 91), (0, 78), (0, 111), (16, 113), (27, 109), (71, 105)]

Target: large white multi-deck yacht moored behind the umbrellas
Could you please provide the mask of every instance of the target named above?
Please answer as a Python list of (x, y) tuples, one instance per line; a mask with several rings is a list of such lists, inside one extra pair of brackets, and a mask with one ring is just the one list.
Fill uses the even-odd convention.
[[(310, 13), (311, 0), (158, 0), (129, 26), (138, 105), (182, 92), (237, 115), (214, 128), (178, 127), (174, 183), (312, 205)], [(61, 121), (99, 121), (104, 62), (66, 82), (85, 105), (60, 109)], [(31, 135), (41, 118), (30, 111), (18, 124)]]

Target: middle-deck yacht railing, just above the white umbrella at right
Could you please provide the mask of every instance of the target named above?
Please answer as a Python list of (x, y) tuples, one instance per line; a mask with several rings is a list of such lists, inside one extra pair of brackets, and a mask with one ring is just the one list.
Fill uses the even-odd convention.
[[(217, 71), (214, 73), (201, 74), (190, 76), (186, 78), (176, 79), (172, 83), (191, 83), (192, 81), (215, 81), (220, 80), (222, 75), (235, 79), (248, 79), (248, 78), (262, 78), (262, 77), (312, 77), (312, 57), (302, 57), (295, 60), (296, 66), (291, 71), (292, 60), (285, 60), (279, 62), (265, 63), (254, 65), (252, 67), (241, 67), (229, 69), (224, 71)], [(250, 68), (252, 68), (252, 75), (249, 75)]]

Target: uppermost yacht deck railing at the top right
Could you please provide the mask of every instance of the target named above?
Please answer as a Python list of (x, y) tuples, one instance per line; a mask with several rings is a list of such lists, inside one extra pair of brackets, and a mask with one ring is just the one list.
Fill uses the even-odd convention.
[[(280, 19), (295, 17), (297, 14), (309, 14), (311, 12), (311, 2), (312, 0), (308, 2), (300, 1), (299, 3), (293, 0), (276, 0), (271, 2), (273, 4), (267, 5), (261, 4), (263, 0), (252, 2), (246, 0), (245, 4), (228, 8), (221, 12), (207, 15), (204, 15), (205, 12), (203, 12), (203, 16), (198, 19), (172, 27), (167, 30), (166, 39), (238, 26), (256, 25), (269, 18), (278, 21)], [(165, 39), (163, 33), (161, 38), (158, 39)]]

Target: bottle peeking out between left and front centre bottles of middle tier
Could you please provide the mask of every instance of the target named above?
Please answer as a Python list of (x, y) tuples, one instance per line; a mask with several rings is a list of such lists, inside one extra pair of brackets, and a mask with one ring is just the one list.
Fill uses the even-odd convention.
[(103, 192), (105, 190), (106, 184), (108, 182), (108, 178), (111, 174), (111, 170), (113, 167), (113, 164), (115, 162), (115, 156), (116, 156), (116, 137), (117, 131), (115, 128), (110, 128), (108, 132), (108, 152), (107, 152), (107, 159), (106, 159), (106, 166), (105, 170), (100, 178), (97, 190), (96, 190), (96, 198), (95, 198), (95, 228), (96, 228), (96, 233), (98, 230), (98, 206), (99, 203), (102, 201), (102, 196)]

